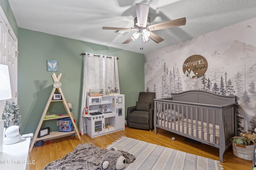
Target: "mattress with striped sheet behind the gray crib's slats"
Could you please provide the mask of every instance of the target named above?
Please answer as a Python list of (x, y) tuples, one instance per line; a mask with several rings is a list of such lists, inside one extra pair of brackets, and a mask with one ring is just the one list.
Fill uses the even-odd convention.
[[(188, 125), (187, 125), (188, 122)], [(196, 120), (193, 120), (193, 125), (191, 125), (191, 119), (184, 119), (184, 126), (182, 126), (182, 119), (180, 119), (180, 121), (173, 121), (173, 122), (168, 122), (168, 121), (164, 121), (159, 119), (158, 120), (158, 125), (162, 126), (162, 127), (166, 127), (168, 129), (172, 129), (174, 131), (178, 131), (180, 133), (184, 133), (187, 135), (192, 135), (193, 132), (193, 137), (196, 137)], [(172, 124), (172, 126), (171, 126)], [(178, 129), (178, 127), (180, 126), (180, 129)], [(183, 128), (183, 132), (182, 132), (182, 128)], [(187, 133), (187, 128), (188, 128), (188, 133)], [(191, 128), (193, 129), (191, 132)], [(202, 135), (201, 135), (201, 121), (198, 121), (198, 139), (202, 139)], [(220, 139), (220, 135), (219, 135), (219, 125), (215, 125), (215, 144), (219, 145), (219, 139)], [(203, 140), (207, 141), (207, 123), (204, 122), (203, 123)], [(213, 125), (211, 123), (209, 123), (209, 141), (211, 143), (214, 143), (213, 141)]]

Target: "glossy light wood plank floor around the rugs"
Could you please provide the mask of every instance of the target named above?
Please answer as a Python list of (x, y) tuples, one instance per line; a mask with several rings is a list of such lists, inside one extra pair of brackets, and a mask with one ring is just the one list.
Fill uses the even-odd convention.
[[(154, 131), (144, 131), (126, 127), (125, 130), (100, 137), (90, 138), (87, 134), (82, 135), (81, 140), (77, 137), (66, 137), (52, 140), (49, 144), (44, 143), (44, 145), (40, 147), (34, 147), (30, 152), (30, 162), (35, 163), (30, 164), (29, 168), (30, 170), (43, 170), (46, 164), (63, 158), (66, 154), (72, 152), (74, 147), (78, 144), (89, 142), (97, 147), (106, 148), (107, 145), (122, 136), (219, 160), (219, 150), (209, 145), (186, 142), (184, 141), (185, 137), (170, 133), (163, 129), (158, 129), (158, 133), (155, 135)], [(176, 140), (172, 141), (172, 137), (175, 137)], [(225, 170), (252, 170), (252, 161), (236, 157), (233, 154), (232, 147), (230, 147), (224, 153), (224, 163), (222, 163), (222, 166)]]

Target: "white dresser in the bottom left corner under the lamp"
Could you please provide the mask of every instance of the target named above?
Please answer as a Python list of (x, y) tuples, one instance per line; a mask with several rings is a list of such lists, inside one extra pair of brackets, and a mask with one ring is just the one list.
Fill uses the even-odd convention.
[(0, 170), (28, 170), (29, 164), (36, 162), (29, 160), (30, 138), (21, 139), (12, 145), (4, 145), (0, 153)]

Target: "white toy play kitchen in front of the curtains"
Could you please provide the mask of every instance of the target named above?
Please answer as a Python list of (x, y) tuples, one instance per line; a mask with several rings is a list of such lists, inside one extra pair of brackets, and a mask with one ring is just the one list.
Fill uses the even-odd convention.
[(124, 130), (124, 95), (118, 89), (107, 93), (88, 93), (85, 113), (86, 131), (93, 138), (107, 133)]

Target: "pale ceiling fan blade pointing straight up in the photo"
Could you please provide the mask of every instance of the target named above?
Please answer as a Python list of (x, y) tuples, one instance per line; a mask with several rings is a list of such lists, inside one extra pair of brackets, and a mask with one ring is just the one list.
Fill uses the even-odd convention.
[(139, 27), (146, 27), (148, 20), (149, 5), (146, 4), (135, 4), (136, 15)]

